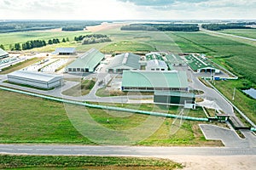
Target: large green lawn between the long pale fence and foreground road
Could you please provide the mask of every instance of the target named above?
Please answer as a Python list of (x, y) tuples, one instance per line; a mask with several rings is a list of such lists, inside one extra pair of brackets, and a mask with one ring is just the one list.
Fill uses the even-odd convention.
[[(207, 141), (197, 125), (199, 122), (184, 121), (181, 127), (178, 127), (174, 138), (170, 135), (171, 131), (174, 132), (171, 126), (173, 119), (120, 111), (104, 111), (76, 105), (64, 107), (62, 103), (3, 90), (0, 90), (0, 95), (0, 143), (113, 144), (116, 142), (123, 144), (134, 140), (137, 142), (132, 144), (222, 145), (220, 141)], [(145, 111), (160, 110), (160, 108), (154, 108), (153, 105), (125, 105), (125, 107)], [(178, 113), (177, 108), (173, 107), (171, 110), (173, 114)], [(202, 115), (201, 111), (189, 111), (188, 114), (188, 116)], [(91, 122), (94, 123), (91, 124)], [(152, 123), (156, 126), (152, 126)], [(138, 126), (141, 124), (142, 127)], [(174, 124), (179, 126), (179, 120)], [(126, 133), (129, 139), (119, 135), (120, 132)], [(137, 135), (138, 132), (145, 135), (145, 139), (140, 139), (143, 135)], [(112, 135), (108, 135), (109, 133)], [(183, 135), (184, 133), (188, 135)], [(107, 139), (102, 139), (102, 137)], [(94, 138), (96, 138), (93, 140), (95, 143), (90, 140)]]

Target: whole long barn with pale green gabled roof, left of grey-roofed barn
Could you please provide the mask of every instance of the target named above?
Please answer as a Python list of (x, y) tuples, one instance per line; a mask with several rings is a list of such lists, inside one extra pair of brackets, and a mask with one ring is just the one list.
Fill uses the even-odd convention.
[(79, 56), (78, 59), (74, 60), (73, 63), (67, 65), (65, 71), (68, 73), (94, 72), (104, 58), (104, 54), (95, 48), (91, 48)]

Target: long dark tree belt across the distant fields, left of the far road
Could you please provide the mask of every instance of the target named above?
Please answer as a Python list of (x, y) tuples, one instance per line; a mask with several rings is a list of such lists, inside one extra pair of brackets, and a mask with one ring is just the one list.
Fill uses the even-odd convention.
[(121, 31), (199, 31), (197, 24), (131, 24)]

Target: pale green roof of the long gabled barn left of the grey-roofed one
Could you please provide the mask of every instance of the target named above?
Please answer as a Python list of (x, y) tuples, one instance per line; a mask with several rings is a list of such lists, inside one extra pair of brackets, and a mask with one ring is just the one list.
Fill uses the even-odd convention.
[(66, 70), (68, 68), (87, 68), (92, 72), (104, 57), (105, 55), (99, 52), (96, 48), (91, 48), (86, 53), (80, 55), (78, 59), (73, 61), (73, 63), (67, 65)]

